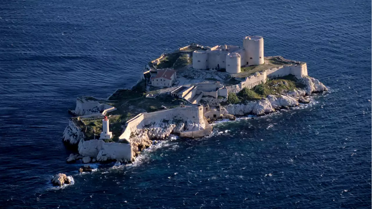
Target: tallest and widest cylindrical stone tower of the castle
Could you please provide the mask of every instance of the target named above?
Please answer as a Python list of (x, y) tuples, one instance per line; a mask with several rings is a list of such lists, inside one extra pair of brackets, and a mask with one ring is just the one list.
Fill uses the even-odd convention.
[(247, 36), (243, 39), (243, 46), (246, 51), (246, 65), (260, 65), (263, 60), (263, 38), (261, 36)]

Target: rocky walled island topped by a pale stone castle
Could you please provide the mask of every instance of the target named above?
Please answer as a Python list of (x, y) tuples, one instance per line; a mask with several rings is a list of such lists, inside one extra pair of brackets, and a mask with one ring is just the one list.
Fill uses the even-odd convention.
[(130, 163), (171, 134), (208, 136), (215, 120), (299, 106), (328, 90), (305, 62), (263, 49), (261, 36), (244, 37), (243, 46), (190, 44), (148, 62), (131, 89), (77, 98), (62, 141), (78, 154), (67, 161)]

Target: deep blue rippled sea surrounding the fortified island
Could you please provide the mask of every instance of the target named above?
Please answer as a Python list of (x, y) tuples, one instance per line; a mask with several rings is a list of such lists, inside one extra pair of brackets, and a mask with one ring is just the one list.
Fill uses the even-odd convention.
[[(1, 1), (0, 208), (371, 208), (371, 5)], [(206, 138), (162, 142), (133, 165), (78, 175), (80, 164), (65, 163), (76, 97), (132, 86), (164, 51), (242, 45), (247, 35), (264, 37), (266, 56), (307, 62), (330, 91), (306, 107), (218, 123)], [(52, 187), (59, 172), (75, 183)]]

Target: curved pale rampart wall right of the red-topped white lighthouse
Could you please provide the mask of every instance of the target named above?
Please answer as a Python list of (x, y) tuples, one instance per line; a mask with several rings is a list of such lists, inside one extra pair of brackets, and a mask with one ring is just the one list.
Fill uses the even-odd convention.
[(151, 113), (140, 113), (126, 122), (125, 130), (119, 136), (119, 139), (126, 139), (131, 142), (130, 136), (132, 132), (144, 128), (151, 123), (161, 122), (163, 120), (183, 120), (191, 123), (203, 124), (203, 106), (193, 105), (192, 107), (176, 107)]

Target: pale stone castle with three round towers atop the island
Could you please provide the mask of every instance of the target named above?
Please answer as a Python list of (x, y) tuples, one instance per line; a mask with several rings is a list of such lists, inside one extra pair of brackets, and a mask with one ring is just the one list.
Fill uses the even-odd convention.
[(217, 45), (208, 50), (196, 50), (192, 53), (192, 67), (205, 70), (225, 68), (228, 73), (240, 73), (245, 65), (260, 65), (263, 60), (263, 38), (247, 36), (241, 46)]

